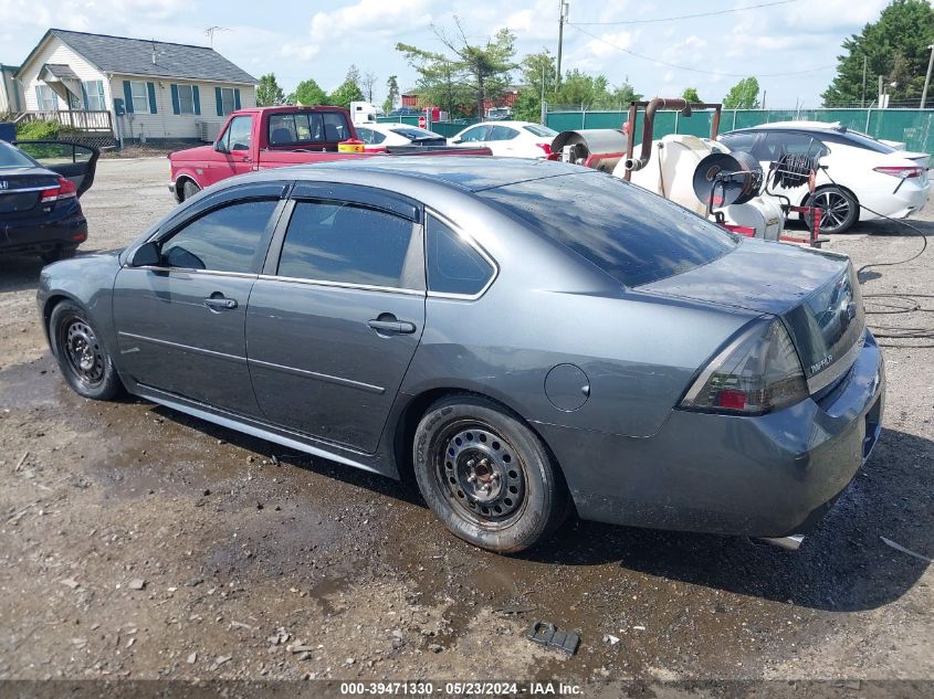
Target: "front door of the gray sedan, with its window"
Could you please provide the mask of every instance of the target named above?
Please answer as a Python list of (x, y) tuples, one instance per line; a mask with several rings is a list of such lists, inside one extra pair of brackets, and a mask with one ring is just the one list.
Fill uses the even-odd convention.
[(150, 239), (158, 265), (119, 271), (113, 308), (125, 373), (214, 407), (259, 412), (244, 319), (285, 188), (267, 182), (209, 197)]

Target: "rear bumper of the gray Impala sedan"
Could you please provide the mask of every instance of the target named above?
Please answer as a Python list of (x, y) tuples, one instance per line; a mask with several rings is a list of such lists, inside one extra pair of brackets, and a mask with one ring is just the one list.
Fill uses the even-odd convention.
[(885, 375), (872, 336), (827, 398), (759, 417), (671, 412), (651, 437), (535, 424), (584, 519), (749, 537), (806, 533), (881, 433)]

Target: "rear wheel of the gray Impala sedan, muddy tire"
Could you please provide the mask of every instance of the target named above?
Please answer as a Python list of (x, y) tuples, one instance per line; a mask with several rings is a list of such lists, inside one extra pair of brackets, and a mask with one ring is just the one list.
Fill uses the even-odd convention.
[(416, 479), (455, 536), (497, 553), (542, 541), (564, 520), (567, 488), (542, 441), (492, 401), (455, 395), (422, 416)]

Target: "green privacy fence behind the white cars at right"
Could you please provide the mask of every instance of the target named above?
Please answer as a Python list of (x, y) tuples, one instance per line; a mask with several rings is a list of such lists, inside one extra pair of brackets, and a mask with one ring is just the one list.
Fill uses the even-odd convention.
[[(712, 112), (685, 117), (678, 112), (655, 114), (654, 137), (668, 134), (710, 136)], [(641, 141), (642, 113), (636, 123), (636, 142)], [(584, 128), (621, 128), (626, 112), (549, 112), (546, 124), (556, 131)], [(903, 141), (907, 150), (934, 155), (934, 109), (724, 109), (720, 131), (746, 128), (770, 121), (839, 121), (847, 128), (874, 138)]]

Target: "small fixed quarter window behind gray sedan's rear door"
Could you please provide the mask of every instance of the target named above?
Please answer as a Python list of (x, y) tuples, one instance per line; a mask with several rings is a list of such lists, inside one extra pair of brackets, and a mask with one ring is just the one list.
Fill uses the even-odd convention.
[(435, 294), (475, 296), (493, 277), (483, 255), (451, 226), (428, 218), (428, 289)]

